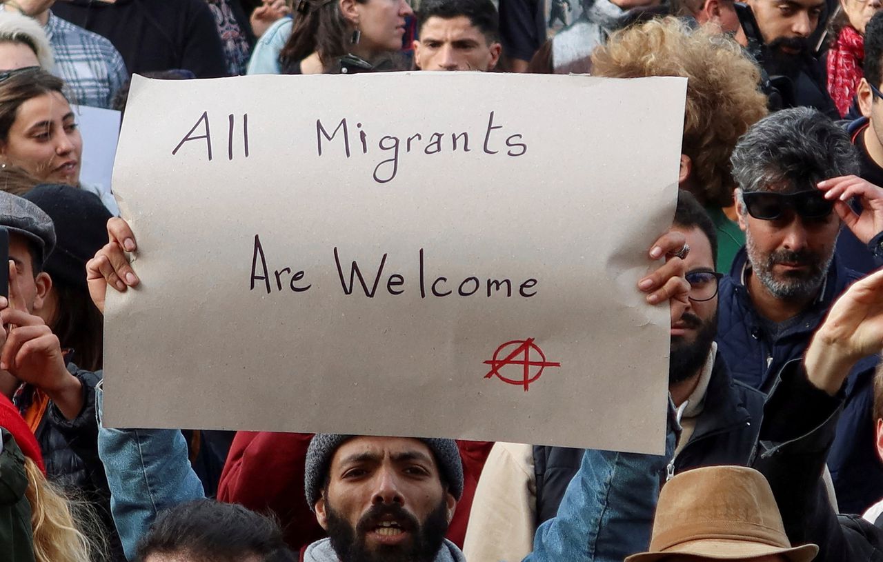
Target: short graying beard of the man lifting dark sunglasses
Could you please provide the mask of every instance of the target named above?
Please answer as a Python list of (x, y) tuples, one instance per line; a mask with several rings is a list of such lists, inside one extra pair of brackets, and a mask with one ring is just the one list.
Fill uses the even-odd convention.
[[(757, 275), (758, 280), (773, 296), (786, 301), (808, 299), (819, 293), (819, 288), (825, 281), (828, 268), (834, 259), (835, 246), (836, 240), (827, 256), (820, 256), (809, 250), (776, 250), (764, 255), (758, 250), (757, 244), (754, 244), (751, 233), (745, 233), (745, 249), (748, 251), (752, 274)], [(806, 271), (789, 271), (776, 276), (773, 268), (781, 263), (808, 267)]]

